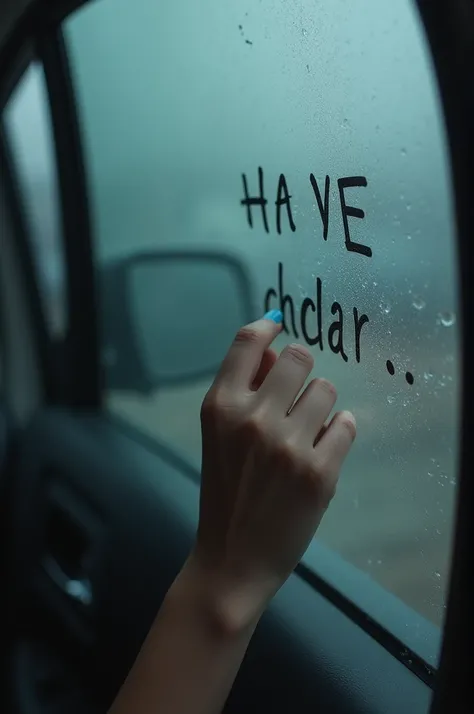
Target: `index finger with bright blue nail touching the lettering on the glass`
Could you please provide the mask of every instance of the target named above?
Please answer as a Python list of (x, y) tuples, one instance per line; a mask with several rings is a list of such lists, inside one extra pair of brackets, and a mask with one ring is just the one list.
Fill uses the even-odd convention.
[(215, 383), (250, 389), (265, 350), (281, 331), (282, 320), (280, 310), (270, 310), (261, 320), (241, 327), (224, 357)]

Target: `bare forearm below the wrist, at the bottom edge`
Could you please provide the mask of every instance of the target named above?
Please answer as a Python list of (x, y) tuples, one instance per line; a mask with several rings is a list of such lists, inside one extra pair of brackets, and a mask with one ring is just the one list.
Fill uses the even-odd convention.
[(109, 714), (219, 714), (257, 621), (223, 614), (184, 568)]

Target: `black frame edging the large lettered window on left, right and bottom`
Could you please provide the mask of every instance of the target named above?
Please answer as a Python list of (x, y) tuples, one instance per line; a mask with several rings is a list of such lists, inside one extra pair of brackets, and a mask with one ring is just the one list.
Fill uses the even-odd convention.
[[(452, 700), (448, 698), (452, 692), (457, 693), (459, 701), (468, 702), (472, 697), (467, 666), (473, 641), (473, 629), (469, 623), (474, 584), (467, 556), (474, 535), (474, 524), (470, 513), (470, 504), (473, 502), (470, 489), (473, 486), (469, 479), (469, 474), (474, 472), (474, 454), (470, 449), (474, 406), (469, 399), (474, 395), (474, 376), (469, 372), (467, 327), (471, 309), (474, 309), (474, 284), (469, 275), (473, 252), (470, 247), (470, 232), (474, 224), (474, 202), (472, 202), (474, 177), (470, 171), (470, 166), (474, 163), (474, 137), (470, 130), (474, 92), (468, 74), (474, 59), (474, 45), (470, 36), (474, 18), (469, 17), (467, 13), (471, 12), (474, 15), (474, 9), (472, 5), (467, 6), (463, 0), (433, 2), (416, 0), (416, 2), (434, 60), (448, 134), (451, 178), (455, 195), (463, 336), (460, 479), (448, 610), (443, 633), (441, 664), (437, 675), (438, 684), (432, 708), (432, 714), (438, 714), (449, 706), (449, 701)], [(95, 315), (93, 245), (74, 94), (60, 29), (60, 23), (83, 4), (85, 4), (83, 0), (30, 2), (29, 8), (17, 22), (5, 48), (0, 52), (2, 67), (0, 110), (15, 84), (15, 73), (18, 76), (18, 62), (25, 48), (25, 40), (27, 46), (28, 38), (35, 38), (38, 55), (43, 61), (51, 102), (63, 207), (63, 236), (71, 326), (65, 362), (69, 380), (64, 402), (73, 407), (97, 410), (101, 407), (101, 378)], [(65, 148), (67, 148), (67, 162)], [(82, 219), (80, 227), (75, 225), (77, 215)], [(39, 320), (39, 317), (36, 316), (36, 319)], [(312, 571), (308, 572), (305, 566), (300, 565), (298, 573), (305, 580), (310, 580), (312, 586), (327, 599), (334, 599), (339, 609), (344, 611), (346, 608), (346, 614), (367, 630), (365, 613), (360, 612), (342, 593), (328, 587), (325, 581)], [(375, 630), (380, 627), (377, 623), (375, 625), (374, 632), (370, 633), (374, 637), (377, 635)], [(385, 630), (383, 632), (385, 636), (387, 633)], [(406, 661), (405, 664), (409, 666)], [(419, 671), (416, 671), (416, 674), (423, 678)], [(432, 672), (428, 677), (430, 686), (433, 679), (431, 675)]]

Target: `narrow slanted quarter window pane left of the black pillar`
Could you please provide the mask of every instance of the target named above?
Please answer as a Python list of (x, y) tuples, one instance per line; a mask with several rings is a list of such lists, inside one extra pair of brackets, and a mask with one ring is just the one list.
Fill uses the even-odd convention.
[(61, 244), (58, 179), (43, 68), (32, 63), (4, 111), (20, 200), (52, 336), (66, 329), (65, 266)]

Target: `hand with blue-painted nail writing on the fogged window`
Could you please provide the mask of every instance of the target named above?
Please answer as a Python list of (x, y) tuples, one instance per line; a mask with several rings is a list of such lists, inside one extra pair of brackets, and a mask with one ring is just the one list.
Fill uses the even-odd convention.
[[(326, 420), (336, 390), (313, 379), (310, 352), (269, 349), (281, 312), (237, 333), (201, 410), (196, 547), (213, 605), (229, 626), (258, 618), (308, 547), (356, 435), (349, 412)], [(300, 396), (298, 396), (300, 395)]]

